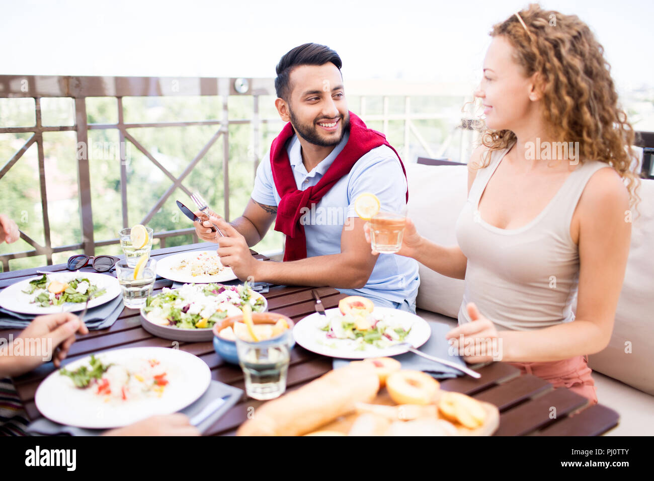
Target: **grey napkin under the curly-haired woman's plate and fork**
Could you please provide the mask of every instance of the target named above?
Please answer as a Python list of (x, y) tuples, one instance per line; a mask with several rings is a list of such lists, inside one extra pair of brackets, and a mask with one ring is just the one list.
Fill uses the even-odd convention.
[[(429, 354), (436, 357), (441, 357), (442, 359), (448, 359), (453, 363), (456, 363), (461, 366), (466, 366), (465, 361), (460, 356), (449, 355), (448, 349), (449, 344), (445, 339), (445, 334), (449, 332), (452, 328), (445, 323), (437, 323), (434, 321), (427, 321), (429, 327), (432, 329), (432, 335), (430, 338), (422, 344), (418, 349), (425, 354)], [(441, 363), (435, 363), (429, 359), (424, 359), (417, 354), (407, 352), (397, 356), (393, 356), (393, 359), (397, 359), (402, 363), (402, 369), (411, 369), (417, 371), (424, 371), (430, 374), (436, 379), (449, 379), (456, 378), (456, 376), (462, 376), (463, 373), (452, 368), (450, 366), (442, 365)], [(337, 369), (343, 367), (350, 363), (353, 359), (339, 359), (334, 358), (332, 367)]]

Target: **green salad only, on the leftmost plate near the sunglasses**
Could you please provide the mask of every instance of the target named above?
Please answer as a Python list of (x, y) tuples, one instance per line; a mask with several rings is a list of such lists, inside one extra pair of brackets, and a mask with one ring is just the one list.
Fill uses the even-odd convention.
[(66, 302), (86, 302), (104, 294), (106, 289), (92, 284), (86, 277), (75, 277), (67, 281), (50, 279), (46, 274), (29, 281), (29, 287), (25, 291), (30, 294), (31, 304), (47, 308), (50, 306), (61, 306)]

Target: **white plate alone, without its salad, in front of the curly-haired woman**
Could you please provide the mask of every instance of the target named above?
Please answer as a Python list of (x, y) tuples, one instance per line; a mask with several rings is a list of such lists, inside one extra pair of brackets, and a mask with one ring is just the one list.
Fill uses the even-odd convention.
[[(338, 308), (327, 309), (325, 310), (327, 318), (330, 319), (331, 315), (334, 313), (340, 313)], [(411, 326), (411, 332), (407, 334), (404, 338), (405, 342), (410, 342), (413, 344), (413, 347), (420, 347), (422, 344), (427, 342), (429, 337), (432, 335), (432, 329), (429, 327), (427, 321), (418, 317), (415, 314), (410, 312), (401, 311), (399, 309), (392, 308), (378, 308), (375, 307), (373, 314), (381, 315), (393, 315), (396, 316), (407, 325)], [(304, 347), (309, 351), (313, 351), (317, 354), (322, 354), (324, 356), (330, 357), (343, 357), (345, 359), (366, 359), (367, 357), (390, 357), (396, 356), (398, 354), (404, 354), (407, 352), (407, 348), (403, 346), (389, 346), (384, 349), (375, 347), (373, 345), (367, 345), (364, 351), (355, 351), (354, 349), (347, 348), (343, 346), (343, 342), (340, 339), (328, 339), (326, 338), (326, 331), (320, 330), (320, 325), (324, 325), (321, 315), (317, 312), (308, 315), (297, 323), (293, 329), (293, 337), (300, 346)], [(336, 344), (336, 348), (326, 346), (325, 344), (320, 344), (318, 340), (321, 340), (325, 344)]]

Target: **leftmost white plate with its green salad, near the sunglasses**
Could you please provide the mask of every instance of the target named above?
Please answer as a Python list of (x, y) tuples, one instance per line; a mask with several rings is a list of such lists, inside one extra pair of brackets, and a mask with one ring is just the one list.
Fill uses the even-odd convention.
[(97, 272), (54, 272), (25, 279), (0, 293), (0, 306), (25, 314), (77, 312), (101, 306), (120, 295), (116, 277)]

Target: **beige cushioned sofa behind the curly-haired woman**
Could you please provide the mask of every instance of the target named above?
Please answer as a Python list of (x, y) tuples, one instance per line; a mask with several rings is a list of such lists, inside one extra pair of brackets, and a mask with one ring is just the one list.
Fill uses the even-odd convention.
[[(456, 218), (466, 201), (466, 166), (406, 167), (409, 217), (426, 238), (455, 244)], [(600, 404), (621, 416), (609, 436), (654, 435), (654, 181), (642, 181), (640, 197), (613, 336), (604, 351), (589, 356)], [(420, 276), (419, 315), (455, 326), (464, 281), (424, 266)]]

